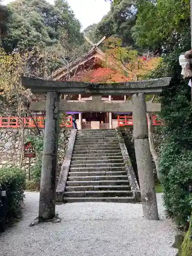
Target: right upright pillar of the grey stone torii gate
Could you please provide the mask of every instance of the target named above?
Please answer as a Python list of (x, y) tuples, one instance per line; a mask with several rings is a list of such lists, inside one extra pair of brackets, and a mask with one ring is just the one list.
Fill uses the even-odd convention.
[(141, 190), (143, 215), (147, 220), (158, 220), (157, 199), (152, 169), (152, 156), (148, 142), (146, 103), (144, 93), (133, 94), (133, 138)]

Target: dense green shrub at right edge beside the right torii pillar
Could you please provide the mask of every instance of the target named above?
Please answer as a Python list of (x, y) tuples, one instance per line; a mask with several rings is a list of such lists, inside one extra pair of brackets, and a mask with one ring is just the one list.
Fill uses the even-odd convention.
[(165, 143), (161, 150), (160, 167), (163, 198), (169, 217), (179, 226), (187, 225), (191, 212), (192, 152), (184, 151), (174, 142)]

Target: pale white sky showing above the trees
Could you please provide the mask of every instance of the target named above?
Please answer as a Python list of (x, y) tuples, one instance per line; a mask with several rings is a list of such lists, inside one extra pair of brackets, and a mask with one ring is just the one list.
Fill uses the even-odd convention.
[[(54, 0), (47, 0), (54, 4)], [(75, 16), (79, 19), (82, 28), (85, 29), (93, 23), (98, 23), (101, 18), (109, 12), (110, 2), (104, 0), (67, 0)], [(3, 4), (8, 4), (12, 0), (5, 0)]]

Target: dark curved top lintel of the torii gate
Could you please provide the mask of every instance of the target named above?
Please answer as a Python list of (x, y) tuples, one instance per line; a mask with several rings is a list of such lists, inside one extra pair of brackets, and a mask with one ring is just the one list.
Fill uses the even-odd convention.
[(31, 89), (34, 94), (59, 92), (62, 94), (101, 94), (101, 95), (129, 95), (134, 93), (159, 94), (167, 87), (170, 77), (151, 79), (137, 82), (121, 83), (87, 83), (87, 82), (61, 82), (44, 79), (22, 77), (22, 84)]

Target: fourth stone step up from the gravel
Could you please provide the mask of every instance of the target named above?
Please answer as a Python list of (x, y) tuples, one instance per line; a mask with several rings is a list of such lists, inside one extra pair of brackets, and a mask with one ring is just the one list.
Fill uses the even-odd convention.
[(67, 181), (67, 186), (114, 186), (114, 185), (129, 185), (130, 182), (126, 180), (93, 180), (93, 181)]

